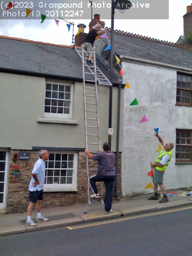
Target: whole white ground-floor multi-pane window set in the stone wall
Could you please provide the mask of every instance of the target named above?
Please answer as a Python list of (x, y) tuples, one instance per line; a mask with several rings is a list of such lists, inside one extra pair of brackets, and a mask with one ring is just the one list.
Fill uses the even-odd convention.
[(74, 152), (49, 152), (43, 190), (77, 191), (77, 159)]

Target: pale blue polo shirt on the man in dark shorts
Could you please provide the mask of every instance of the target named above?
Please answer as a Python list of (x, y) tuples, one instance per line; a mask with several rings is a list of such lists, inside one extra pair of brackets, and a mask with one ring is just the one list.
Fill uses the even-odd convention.
[(31, 173), (35, 173), (37, 175), (37, 178), (40, 184), (34, 187), (33, 183), (35, 182), (35, 180), (32, 177), (28, 186), (28, 190), (29, 191), (42, 190), (43, 184), (45, 182), (45, 162), (41, 158), (39, 158), (39, 160), (37, 160), (37, 162), (34, 164), (33, 171), (31, 171)]

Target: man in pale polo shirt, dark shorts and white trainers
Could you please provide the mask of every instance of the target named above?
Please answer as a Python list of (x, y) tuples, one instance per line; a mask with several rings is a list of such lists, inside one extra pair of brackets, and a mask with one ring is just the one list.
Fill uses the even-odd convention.
[(39, 159), (34, 164), (33, 171), (31, 172), (32, 178), (29, 183), (29, 205), (27, 208), (27, 225), (35, 227), (35, 224), (31, 220), (31, 213), (33, 206), (37, 202), (37, 222), (49, 221), (41, 215), (41, 205), (43, 199), (43, 184), (45, 181), (45, 161), (49, 158), (49, 153), (46, 149), (40, 150)]

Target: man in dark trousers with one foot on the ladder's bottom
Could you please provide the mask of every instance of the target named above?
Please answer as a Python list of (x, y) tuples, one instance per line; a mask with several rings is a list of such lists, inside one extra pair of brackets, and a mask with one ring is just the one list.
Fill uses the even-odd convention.
[(97, 174), (91, 176), (89, 178), (89, 182), (91, 185), (91, 189), (93, 190), (94, 194), (91, 195), (91, 198), (99, 198), (98, 189), (96, 187), (96, 182), (104, 182), (106, 188), (106, 195), (105, 195), (105, 211), (107, 214), (111, 213), (111, 205), (112, 205), (112, 198), (113, 198), (113, 184), (115, 181), (115, 168), (114, 168), (114, 153), (109, 151), (110, 144), (105, 142), (103, 144), (103, 150), (99, 149), (97, 155), (92, 155), (89, 153), (88, 149), (85, 149), (85, 153), (92, 158), (94, 161), (98, 161), (98, 170)]

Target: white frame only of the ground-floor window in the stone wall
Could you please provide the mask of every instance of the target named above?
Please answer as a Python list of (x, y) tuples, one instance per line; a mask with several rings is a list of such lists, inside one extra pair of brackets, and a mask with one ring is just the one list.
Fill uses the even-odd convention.
[[(78, 170), (78, 152), (76, 151), (49, 151), (49, 154), (73, 154), (73, 174), (72, 184), (44, 184), (44, 192), (60, 192), (60, 191), (78, 191), (77, 189), (77, 170)], [(61, 169), (61, 168), (59, 168)], [(45, 168), (47, 170), (47, 168)], [(54, 168), (55, 170), (55, 168)], [(46, 176), (45, 176), (46, 178)]]

